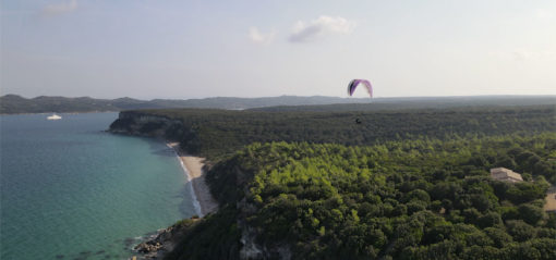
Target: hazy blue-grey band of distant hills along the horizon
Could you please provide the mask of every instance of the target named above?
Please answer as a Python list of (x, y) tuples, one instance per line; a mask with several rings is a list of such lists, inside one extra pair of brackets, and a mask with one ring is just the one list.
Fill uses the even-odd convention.
[[(338, 106), (330, 106), (338, 104)], [(480, 97), (430, 97), (430, 98), (337, 98), (280, 96), (265, 98), (216, 97), (204, 99), (153, 99), (132, 98), (95, 99), (89, 97), (23, 98), (17, 95), (0, 97), (0, 114), (95, 112), (137, 109), (256, 109), (264, 111), (375, 111), (399, 109), (435, 109), (480, 106), (537, 106), (555, 104), (556, 96), (480, 96)]]

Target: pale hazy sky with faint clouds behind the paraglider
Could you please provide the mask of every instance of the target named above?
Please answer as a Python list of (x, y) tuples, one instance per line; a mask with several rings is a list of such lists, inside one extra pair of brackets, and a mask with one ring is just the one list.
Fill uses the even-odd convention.
[(1, 95), (556, 94), (554, 0), (0, 2)]

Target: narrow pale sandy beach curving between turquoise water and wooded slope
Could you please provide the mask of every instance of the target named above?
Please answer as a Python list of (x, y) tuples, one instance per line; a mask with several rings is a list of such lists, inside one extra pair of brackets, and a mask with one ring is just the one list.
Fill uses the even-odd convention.
[(176, 150), (183, 162), (183, 165), (185, 165), (185, 169), (188, 170), (193, 191), (195, 193), (196, 200), (201, 208), (200, 216), (204, 216), (218, 210), (218, 202), (213, 198), (208, 185), (205, 182), (205, 172), (203, 171), (203, 166), (205, 165), (203, 161), (205, 159), (201, 157), (193, 157), (183, 152), (178, 143), (170, 143), (168, 146)]

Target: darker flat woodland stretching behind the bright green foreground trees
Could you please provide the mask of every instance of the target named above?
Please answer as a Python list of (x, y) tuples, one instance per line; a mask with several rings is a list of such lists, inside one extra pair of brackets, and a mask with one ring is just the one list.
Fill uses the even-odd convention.
[[(179, 119), (183, 127), (168, 135), (180, 140), (190, 152), (213, 161), (252, 143), (307, 141), (367, 146), (387, 140), (479, 138), (556, 129), (556, 106), (376, 112), (176, 109), (138, 113)], [(361, 123), (358, 124), (356, 120)]]

